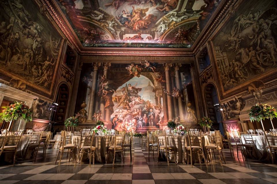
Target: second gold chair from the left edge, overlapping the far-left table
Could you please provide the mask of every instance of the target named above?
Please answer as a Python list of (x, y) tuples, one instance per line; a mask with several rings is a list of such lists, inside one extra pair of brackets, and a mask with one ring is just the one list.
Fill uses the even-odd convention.
[[(33, 150), (33, 157), (37, 158), (37, 154), (38, 154), (38, 149), (40, 146), (40, 141), (41, 141), (41, 134), (42, 132), (32, 132), (31, 138), (29, 140), (26, 152), (25, 152), (25, 156), (24, 159), (26, 158), (28, 151), (31, 149)], [(34, 160), (34, 162), (35, 162)]]

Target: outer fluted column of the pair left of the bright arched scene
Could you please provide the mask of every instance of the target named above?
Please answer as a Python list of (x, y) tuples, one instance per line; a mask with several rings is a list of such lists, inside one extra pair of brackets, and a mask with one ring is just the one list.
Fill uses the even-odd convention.
[(99, 63), (94, 63), (94, 64), (92, 64), (92, 66), (93, 66), (93, 78), (92, 78), (92, 82), (91, 82), (91, 92), (90, 92), (89, 104), (88, 104), (88, 108), (87, 108), (87, 119), (88, 120), (92, 120), (92, 115), (95, 110), (94, 105), (95, 105), (95, 97), (97, 94), (96, 82), (98, 79)]

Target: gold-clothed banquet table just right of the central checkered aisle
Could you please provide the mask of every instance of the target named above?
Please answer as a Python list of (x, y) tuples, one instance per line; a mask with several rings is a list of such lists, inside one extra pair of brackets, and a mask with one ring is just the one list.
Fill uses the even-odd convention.
[[(177, 163), (186, 162), (186, 147), (190, 145), (188, 135), (166, 135), (168, 144), (174, 146), (175, 159)], [(205, 146), (209, 145), (209, 138), (207, 135), (202, 135), (202, 146), (205, 154)], [(193, 146), (201, 146), (200, 144), (193, 144)], [(151, 154), (151, 153), (150, 153)], [(193, 162), (199, 162), (196, 153), (192, 156)], [(202, 158), (201, 158), (202, 159)], [(208, 161), (210, 160), (207, 158)], [(174, 162), (174, 157), (170, 155), (170, 162)]]

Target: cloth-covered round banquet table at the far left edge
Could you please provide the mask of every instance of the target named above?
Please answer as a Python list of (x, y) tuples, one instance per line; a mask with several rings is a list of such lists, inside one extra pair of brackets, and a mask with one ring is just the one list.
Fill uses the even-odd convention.
[[(39, 139), (39, 136), (40, 135), (26, 135), (26, 134), (23, 134), (18, 142), (18, 147), (17, 147), (17, 152), (16, 152), (16, 158), (24, 158), (26, 151), (27, 151), (27, 147), (28, 147), (28, 144), (29, 144), (29, 141), (30, 139), (32, 138), (32, 136), (38, 136), (38, 139)], [(3, 141), (5, 139), (5, 136), (0, 136), (0, 146), (3, 145)], [(32, 150), (29, 150), (30, 152)], [(29, 153), (30, 153), (29, 152)], [(31, 157), (31, 154), (27, 154), (27, 157), (26, 159), (29, 159)], [(1, 155), (1, 158), (0, 158), (0, 161), (5, 161), (5, 162), (12, 162), (13, 160), (13, 154), (11, 153), (3, 153)]]

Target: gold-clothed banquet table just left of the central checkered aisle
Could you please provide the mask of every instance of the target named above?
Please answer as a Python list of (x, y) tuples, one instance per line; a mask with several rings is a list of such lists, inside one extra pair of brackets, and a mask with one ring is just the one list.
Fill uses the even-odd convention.
[[(76, 158), (78, 154), (78, 150), (80, 147), (80, 135), (73, 135), (72, 136), (72, 144), (76, 147), (74, 151), (74, 157)], [(99, 135), (94, 135), (93, 137), (93, 142), (92, 145), (96, 147), (95, 150), (95, 161), (100, 162), (100, 163), (105, 163), (106, 162), (106, 155), (107, 155), (107, 149), (108, 146), (111, 146), (114, 144), (115, 141), (115, 135), (104, 135), (104, 136), (99, 136)], [(89, 146), (89, 145), (87, 145)], [(118, 155), (118, 154), (117, 154)], [(117, 159), (120, 157), (117, 156)], [(77, 158), (77, 162), (80, 163), (81, 160), (80, 158)], [(82, 162), (88, 162), (89, 158), (86, 154), (83, 156)], [(108, 163), (113, 162), (113, 158), (111, 155), (108, 157)]]

